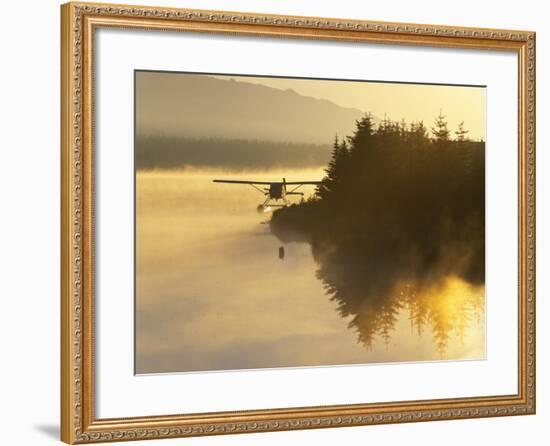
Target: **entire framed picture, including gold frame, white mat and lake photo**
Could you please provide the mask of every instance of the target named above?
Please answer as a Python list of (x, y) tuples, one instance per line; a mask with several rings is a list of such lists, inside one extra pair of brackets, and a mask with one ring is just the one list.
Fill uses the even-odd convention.
[(534, 414), (535, 54), (62, 5), (62, 440)]

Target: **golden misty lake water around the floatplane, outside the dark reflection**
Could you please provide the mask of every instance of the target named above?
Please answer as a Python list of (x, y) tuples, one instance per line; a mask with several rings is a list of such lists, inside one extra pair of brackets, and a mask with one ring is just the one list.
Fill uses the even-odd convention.
[(411, 297), (396, 284), (391, 323), (388, 308), (370, 315), (381, 322), (365, 342), (361, 315), (338, 311), (309, 244), (270, 233), (270, 214), (256, 211), (262, 195), (212, 183), (283, 176), (317, 180), (323, 170), (137, 174), (136, 373), (485, 357), (483, 287), (449, 277)]

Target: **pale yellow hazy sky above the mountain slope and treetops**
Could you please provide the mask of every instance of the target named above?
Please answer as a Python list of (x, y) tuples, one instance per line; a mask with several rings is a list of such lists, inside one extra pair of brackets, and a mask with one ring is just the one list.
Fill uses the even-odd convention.
[[(472, 139), (485, 139), (485, 93), (483, 87), (396, 84), (364, 81), (284, 79), (269, 77), (216, 76), (240, 82), (292, 89), (300, 95), (328, 99), (342, 107), (369, 111), (392, 120), (424, 121), (431, 128), (440, 110), (455, 131), (461, 121)], [(453, 134), (454, 136), (454, 134)]]

